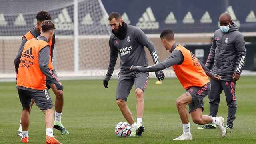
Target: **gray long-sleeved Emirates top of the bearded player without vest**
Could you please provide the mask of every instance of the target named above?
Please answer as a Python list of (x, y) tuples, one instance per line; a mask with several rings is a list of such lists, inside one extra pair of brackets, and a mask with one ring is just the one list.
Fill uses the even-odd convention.
[(118, 39), (112, 34), (109, 39), (110, 59), (106, 78), (111, 78), (118, 54), (120, 57), (121, 69), (119, 76), (136, 74), (137, 72), (130, 71), (132, 65), (148, 66), (148, 59), (146, 57), (144, 46), (150, 51), (154, 64), (158, 63), (156, 47), (141, 29), (127, 25), (127, 35), (123, 40)]

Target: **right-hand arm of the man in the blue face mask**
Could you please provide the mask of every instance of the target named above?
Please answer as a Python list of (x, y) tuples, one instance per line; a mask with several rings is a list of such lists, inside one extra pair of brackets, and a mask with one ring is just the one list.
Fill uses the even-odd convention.
[(235, 50), (236, 50), (236, 68), (233, 74), (233, 80), (239, 80), (240, 74), (242, 73), (242, 69), (245, 65), (246, 58), (246, 48), (244, 42), (244, 36), (242, 34), (238, 34), (235, 39)]

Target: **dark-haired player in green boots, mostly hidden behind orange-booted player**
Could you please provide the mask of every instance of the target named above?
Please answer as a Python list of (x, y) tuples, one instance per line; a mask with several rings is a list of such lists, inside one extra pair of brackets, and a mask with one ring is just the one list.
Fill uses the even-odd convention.
[[(51, 16), (48, 12), (46, 11), (40, 11), (38, 12), (38, 14), (36, 15), (36, 20), (37, 20), (37, 24), (35, 28), (32, 28), (29, 32), (27, 32), (23, 37), (22, 37), (22, 43), (20, 45), (20, 49), (18, 51), (18, 53), (22, 52), (22, 48), (24, 46), (24, 44), (32, 39), (32, 38), (36, 38), (38, 36), (40, 36), (40, 28), (41, 28), (41, 24), (42, 22), (44, 22), (45, 20), (51, 20)], [(55, 33), (53, 34), (50, 42), (48, 42), (49, 46), (50, 46), (50, 60), (49, 60), (49, 68), (52, 71), (52, 74), (54, 74), (54, 76), (57, 78), (57, 74), (56, 71), (54, 69), (54, 66), (52, 64), (52, 58), (53, 58), (53, 49), (54, 49), (54, 44), (55, 44)], [(16, 67), (19, 66), (19, 61), (20, 61), (20, 57), (16, 57), (15, 62), (16, 62)], [(18, 72), (18, 71), (17, 71)], [(56, 81), (55, 81), (56, 82)], [(62, 109), (63, 109), (63, 104), (64, 104), (64, 100), (63, 100), (63, 91), (62, 90), (58, 90), (56, 88), (56, 86), (51, 85), (54, 82), (48, 80), (48, 78), (46, 78), (46, 86), (50, 89), (52, 88), (52, 91), (54, 92), (56, 99), (55, 99), (55, 120), (54, 120), (54, 128), (60, 130), (60, 132), (62, 134), (69, 134), (68, 130), (66, 130), (66, 128), (64, 128), (64, 126), (61, 123), (61, 115), (62, 115)], [(32, 108), (34, 104), (34, 100), (32, 100), (31, 105), (30, 105), (30, 110)], [(21, 124), (20, 124), (20, 128), (18, 130), (18, 136), (22, 136), (21, 134)]]

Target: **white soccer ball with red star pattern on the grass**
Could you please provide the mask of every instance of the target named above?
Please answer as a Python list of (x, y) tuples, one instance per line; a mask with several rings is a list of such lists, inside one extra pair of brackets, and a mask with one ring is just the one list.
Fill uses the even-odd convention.
[(132, 128), (127, 122), (119, 122), (115, 128), (118, 137), (128, 137), (132, 133)]

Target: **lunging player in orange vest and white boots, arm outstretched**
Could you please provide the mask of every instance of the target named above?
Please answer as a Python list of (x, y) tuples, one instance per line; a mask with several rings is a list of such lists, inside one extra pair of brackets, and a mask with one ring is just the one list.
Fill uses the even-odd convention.
[(192, 54), (192, 52), (176, 43), (172, 30), (164, 30), (161, 33), (160, 38), (166, 50), (171, 53), (170, 56), (158, 64), (148, 67), (132, 66), (130, 70), (136, 72), (153, 72), (163, 70), (170, 66), (173, 67), (180, 83), (184, 89), (186, 89), (186, 92), (176, 101), (176, 106), (183, 125), (183, 133), (173, 140), (193, 139), (190, 133), (189, 114), (186, 105), (189, 106), (189, 113), (196, 124), (216, 124), (218, 125), (218, 128), (220, 128), (221, 135), (224, 138), (226, 136), (224, 118), (202, 115), (204, 110), (203, 98), (207, 96), (211, 90), (208, 76), (216, 80), (220, 80), (220, 76), (212, 74), (212, 72), (207, 69), (204, 64)]

